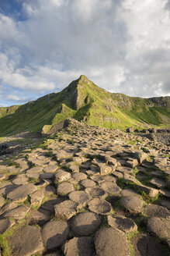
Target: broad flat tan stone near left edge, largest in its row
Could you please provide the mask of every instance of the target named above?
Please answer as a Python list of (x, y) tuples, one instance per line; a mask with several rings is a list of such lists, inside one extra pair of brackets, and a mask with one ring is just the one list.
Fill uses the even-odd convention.
[(12, 190), (12, 192), (9, 192), (7, 198), (12, 201), (25, 201), (26, 197), (28, 197), (29, 194), (36, 190), (36, 186), (29, 183), (23, 186), (19, 186), (15, 190)]

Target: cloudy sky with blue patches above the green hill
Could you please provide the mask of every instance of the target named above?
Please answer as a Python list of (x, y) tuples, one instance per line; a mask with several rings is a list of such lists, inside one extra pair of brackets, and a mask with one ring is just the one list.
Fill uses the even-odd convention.
[(84, 74), (143, 98), (170, 95), (170, 0), (0, 0), (0, 107)]

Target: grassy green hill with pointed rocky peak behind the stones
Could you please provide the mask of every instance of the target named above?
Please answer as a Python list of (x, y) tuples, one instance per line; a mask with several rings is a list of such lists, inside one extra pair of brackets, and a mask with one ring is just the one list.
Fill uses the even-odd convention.
[(0, 108), (0, 136), (25, 130), (40, 131), (72, 117), (88, 125), (126, 129), (169, 126), (170, 97), (136, 98), (97, 87), (86, 76), (71, 82), (59, 93), (25, 105)]

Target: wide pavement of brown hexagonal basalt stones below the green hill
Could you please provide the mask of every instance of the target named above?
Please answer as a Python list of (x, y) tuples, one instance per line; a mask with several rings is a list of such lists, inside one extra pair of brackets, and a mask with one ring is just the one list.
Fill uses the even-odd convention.
[(14, 256), (129, 256), (128, 236), (134, 256), (166, 255), (168, 147), (69, 122), (41, 148), (12, 158), (17, 166), (0, 162), (2, 254), (8, 243)]

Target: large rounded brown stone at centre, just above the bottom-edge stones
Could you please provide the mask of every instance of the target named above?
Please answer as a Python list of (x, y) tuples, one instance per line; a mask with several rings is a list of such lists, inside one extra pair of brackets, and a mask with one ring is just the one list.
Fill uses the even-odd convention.
[(95, 232), (100, 223), (99, 215), (93, 212), (83, 212), (71, 219), (71, 229), (74, 236), (88, 236)]

